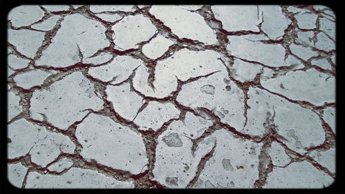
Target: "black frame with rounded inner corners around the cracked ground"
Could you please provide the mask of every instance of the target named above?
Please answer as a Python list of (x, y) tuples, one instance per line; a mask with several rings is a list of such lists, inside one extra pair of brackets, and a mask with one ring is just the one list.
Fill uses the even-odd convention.
[[(338, 3), (339, 1), (333, 1), (331, 4), (329, 1), (309, 1), (309, 0), (300, 0), (300, 1), (175, 1), (175, 2), (165, 2), (165, 3), (154, 3), (150, 1), (124, 1), (120, 3), (119, 1), (39, 1), (39, 0), (31, 0), (31, 1), (10, 1), (4, 2), (0, 1), (0, 14), (1, 14), (1, 27), (0, 29), (0, 59), (3, 61), (1, 64), (2, 70), (1, 72), (1, 92), (3, 95), (0, 95), (1, 107), (3, 110), (3, 116), (1, 117), (1, 124), (5, 127), (1, 128), (0, 130), (0, 193), (128, 193), (133, 192), (153, 192), (153, 193), (179, 193), (179, 192), (190, 192), (190, 193), (345, 193), (345, 189), (342, 185), (342, 178), (344, 178), (344, 167), (342, 166), (342, 140), (340, 137), (343, 137), (342, 134), (344, 132), (339, 127), (339, 124), (342, 124), (340, 120), (340, 111), (342, 110), (342, 95), (341, 91), (341, 79), (342, 79), (342, 43), (344, 39), (342, 35), (339, 35), (342, 32), (341, 26), (342, 23), (344, 24), (344, 8), (342, 7), (342, 3)], [(7, 178), (7, 14), (10, 10), (16, 6), (20, 5), (39, 5), (39, 4), (237, 4), (237, 5), (324, 5), (328, 6), (335, 12), (336, 14), (336, 64), (337, 64), (337, 72), (336, 72), (336, 128), (337, 130), (337, 137), (336, 137), (336, 179), (331, 186), (326, 188), (320, 189), (302, 189), (302, 188), (294, 188), (294, 189), (91, 189), (91, 188), (84, 188), (84, 189), (70, 189), (70, 188), (61, 188), (61, 189), (19, 189), (10, 184)], [(338, 100), (339, 99), (339, 100)]]

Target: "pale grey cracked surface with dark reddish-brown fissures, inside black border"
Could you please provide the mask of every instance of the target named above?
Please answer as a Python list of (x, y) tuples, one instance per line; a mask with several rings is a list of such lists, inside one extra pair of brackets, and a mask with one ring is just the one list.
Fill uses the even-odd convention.
[(335, 180), (325, 6), (19, 6), (19, 188), (323, 188)]

